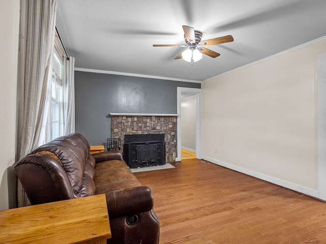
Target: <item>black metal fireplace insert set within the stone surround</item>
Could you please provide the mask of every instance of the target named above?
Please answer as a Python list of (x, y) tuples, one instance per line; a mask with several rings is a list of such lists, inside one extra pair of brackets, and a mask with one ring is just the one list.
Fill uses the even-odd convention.
[(164, 134), (125, 135), (123, 158), (130, 168), (165, 164)]

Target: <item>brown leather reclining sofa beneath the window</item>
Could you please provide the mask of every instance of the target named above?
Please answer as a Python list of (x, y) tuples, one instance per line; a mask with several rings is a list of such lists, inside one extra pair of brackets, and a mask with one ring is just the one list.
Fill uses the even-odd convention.
[(89, 154), (80, 134), (52, 140), (14, 168), (31, 204), (105, 194), (112, 238), (107, 243), (158, 243), (153, 194), (141, 186), (121, 151)]

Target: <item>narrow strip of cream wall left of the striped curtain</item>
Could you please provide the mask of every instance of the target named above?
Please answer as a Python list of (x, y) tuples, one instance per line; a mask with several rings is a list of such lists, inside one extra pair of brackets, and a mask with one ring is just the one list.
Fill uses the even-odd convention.
[(0, 210), (8, 209), (13, 204), (10, 167), (15, 163), (16, 148), (19, 8), (19, 0), (0, 1)]

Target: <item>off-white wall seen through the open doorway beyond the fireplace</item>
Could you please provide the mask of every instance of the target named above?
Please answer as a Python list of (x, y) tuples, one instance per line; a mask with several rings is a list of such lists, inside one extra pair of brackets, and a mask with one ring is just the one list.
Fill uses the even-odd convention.
[(196, 96), (181, 100), (181, 147), (196, 152)]

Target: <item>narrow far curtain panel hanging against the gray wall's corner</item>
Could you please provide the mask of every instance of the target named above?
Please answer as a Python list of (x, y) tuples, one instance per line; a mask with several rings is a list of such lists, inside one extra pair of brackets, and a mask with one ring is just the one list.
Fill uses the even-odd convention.
[(64, 59), (63, 90), (64, 90), (64, 134), (75, 132), (75, 58)]

